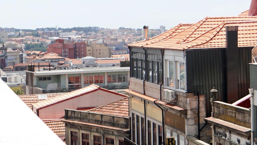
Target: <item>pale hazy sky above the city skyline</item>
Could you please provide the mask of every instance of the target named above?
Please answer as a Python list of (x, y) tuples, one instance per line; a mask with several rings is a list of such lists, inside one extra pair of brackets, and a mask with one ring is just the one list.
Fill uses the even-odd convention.
[(237, 16), (251, 0), (4, 0), (0, 27), (142, 28), (195, 23), (205, 17)]

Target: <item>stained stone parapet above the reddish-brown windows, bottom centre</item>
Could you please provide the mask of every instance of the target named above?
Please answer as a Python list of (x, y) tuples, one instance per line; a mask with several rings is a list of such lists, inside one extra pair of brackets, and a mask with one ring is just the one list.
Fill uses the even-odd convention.
[(118, 117), (93, 112), (65, 109), (65, 119), (78, 120), (100, 125), (114, 126), (119, 128), (129, 128), (130, 121), (128, 117)]

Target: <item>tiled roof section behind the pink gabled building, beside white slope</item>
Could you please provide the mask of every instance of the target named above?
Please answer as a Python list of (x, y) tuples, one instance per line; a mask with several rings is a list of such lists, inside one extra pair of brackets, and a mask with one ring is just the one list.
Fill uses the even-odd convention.
[[(34, 95), (18, 95), (18, 96), (32, 110), (32, 104), (44, 100), (44, 99), (39, 99), (38, 95), (39, 94), (34, 94)], [(61, 95), (61, 94), (47, 94), (47, 98), (50, 99), (50, 98), (53, 98), (53, 97), (59, 96), (59, 95)]]

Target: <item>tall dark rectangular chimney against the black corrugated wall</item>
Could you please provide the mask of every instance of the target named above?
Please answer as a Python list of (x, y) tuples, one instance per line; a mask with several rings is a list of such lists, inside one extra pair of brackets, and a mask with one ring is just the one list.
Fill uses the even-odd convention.
[(239, 100), (238, 95), (238, 66), (240, 56), (237, 47), (238, 26), (226, 26), (226, 91), (227, 102)]

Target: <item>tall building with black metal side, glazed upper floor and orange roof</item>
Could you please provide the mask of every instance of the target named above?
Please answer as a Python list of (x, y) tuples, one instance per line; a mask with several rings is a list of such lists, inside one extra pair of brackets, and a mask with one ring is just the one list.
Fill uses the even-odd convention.
[(132, 142), (160, 144), (166, 136), (175, 136), (178, 145), (189, 144), (191, 136), (209, 142), (211, 124), (204, 119), (211, 115), (210, 90), (219, 90), (217, 99), (227, 103), (248, 94), (248, 63), (256, 38), (245, 32), (257, 34), (257, 17), (246, 15), (179, 24), (128, 45)]

